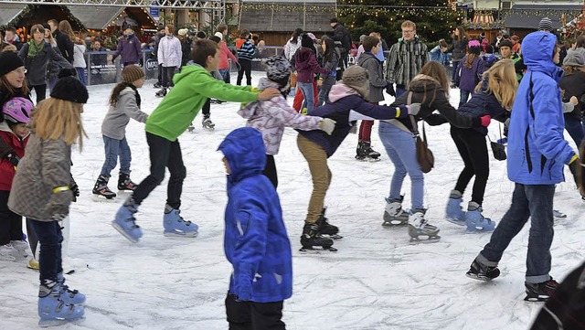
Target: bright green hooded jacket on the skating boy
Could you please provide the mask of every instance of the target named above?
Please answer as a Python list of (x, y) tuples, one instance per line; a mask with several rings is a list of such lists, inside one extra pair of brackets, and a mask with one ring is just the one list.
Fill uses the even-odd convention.
[(250, 86), (234, 86), (216, 80), (197, 64), (181, 68), (173, 82), (175, 87), (146, 120), (146, 132), (169, 141), (176, 141), (186, 131), (208, 98), (235, 102), (258, 100), (258, 92)]

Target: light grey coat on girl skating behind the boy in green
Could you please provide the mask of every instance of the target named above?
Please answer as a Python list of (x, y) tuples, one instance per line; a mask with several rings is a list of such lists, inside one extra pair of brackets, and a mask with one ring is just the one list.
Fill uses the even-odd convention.
[(126, 136), (126, 125), (130, 118), (136, 122), (146, 122), (148, 114), (140, 111), (134, 90), (126, 87), (120, 92), (116, 106), (111, 106), (103, 118), (101, 133), (111, 139), (122, 140)]

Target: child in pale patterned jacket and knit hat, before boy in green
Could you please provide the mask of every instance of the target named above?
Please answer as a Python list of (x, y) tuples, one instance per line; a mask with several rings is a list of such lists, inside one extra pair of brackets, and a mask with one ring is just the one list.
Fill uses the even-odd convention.
[[(266, 76), (261, 78), (258, 89), (269, 87), (285, 90), (291, 75), (291, 64), (282, 56), (272, 56), (265, 62)], [(255, 101), (239, 109), (239, 115), (246, 118), (246, 126), (251, 126), (262, 133), (266, 146), (266, 167), (262, 174), (267, 176), (274, 188), (278, 186), (274, 154), (278, 154), (281, 146), (284, 127), (293, 127), (297, 130), (323, 130), (331, 134), (335, 129), (335, 121), (329, 118), (307, 116), (296, 112), (286, 101), (286, 93), (268, 101)]]

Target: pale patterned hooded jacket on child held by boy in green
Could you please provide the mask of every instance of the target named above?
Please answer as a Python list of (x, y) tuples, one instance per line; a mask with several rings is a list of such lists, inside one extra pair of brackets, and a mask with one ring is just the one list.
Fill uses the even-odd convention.
[[(279, 85), (268, 78), (261, 78), (258, 89), (264, 90), (268, 87), (278, 89)], [(278, 154), (284, 127), (303, 131), (318, 130), (319, 123), (323, 120), (320, 117), (296, 112), (282, 95), (269, 101), (248, 103), (239, 109), (238, 114), (248, 120), (246, 126), (253, 127), (262, 133), (266, 154)]]

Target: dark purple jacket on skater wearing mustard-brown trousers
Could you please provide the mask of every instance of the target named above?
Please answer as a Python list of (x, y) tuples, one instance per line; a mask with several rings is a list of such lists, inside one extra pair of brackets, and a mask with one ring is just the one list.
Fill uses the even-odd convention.
[[(323, 131), (299, 131), (301, 135), (319, 144), (327, 153), (327, 158), (331, 157), (339, 147), (352, 126), (356, 124), (355, 115), (350, 112), (357, 112), (358, 119), (377, 120), (377, 119), (396, 119), (404, 118), (409, 115), (409, 111), (404, 105), (398, 107), (389, 107), (386, 105), (374, 105), (365, 101), (356, 90), (338, 82), (333, 85), (329, 92), (329, 100), (324, 105), (313, 110), (311, 115), (323, 118), (331, 118), (335, 121), (335, 130), (331, 135)], [(399, 109), (400, 111), (397, 111)]]

